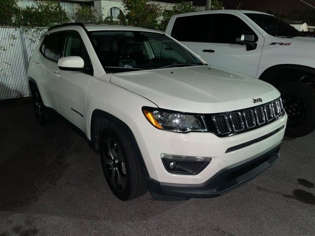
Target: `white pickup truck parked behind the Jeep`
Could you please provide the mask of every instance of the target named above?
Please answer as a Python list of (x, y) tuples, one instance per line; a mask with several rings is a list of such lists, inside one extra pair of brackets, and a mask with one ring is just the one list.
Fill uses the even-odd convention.
[(287, 136), (304, 136), (315, 129), (315, 38), (272, 15), (247, 10), (174, 15), (165, 32), (209, 65), (279, 89), (288, 114)]

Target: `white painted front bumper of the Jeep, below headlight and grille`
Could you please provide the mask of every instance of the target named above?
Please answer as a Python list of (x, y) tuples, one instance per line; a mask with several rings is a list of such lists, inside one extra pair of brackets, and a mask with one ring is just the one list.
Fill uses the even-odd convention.
[[(276, 121), (252, 131), (218, 137), (208, 132), (183, 134), (158, 130), (141, 114), (134, 120), (132, 130), (151, 179), (170, 185), (199, 186), (221, 170), (260, 156), (266, 150), (281, 144), (286, 120), (287, 115), (285, 114)], [(269, 136), (281, 127), (283, 128), (280, 131)], [(260, 137), (265, 138), (252, 142), (257, 141)], [(243, 146), (244, 144), (247, 145)], [(197, 175), (172, 174), (165, 169), (161, 153), (210, 157), (211, 163)]]

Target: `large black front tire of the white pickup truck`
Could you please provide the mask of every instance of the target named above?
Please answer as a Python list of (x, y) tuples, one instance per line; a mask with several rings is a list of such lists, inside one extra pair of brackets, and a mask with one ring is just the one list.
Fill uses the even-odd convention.
[(315, 129), (315, 91), (301, 82), (289, 82), (277, 87), (288, 115), (285, 136), (301, 137)]

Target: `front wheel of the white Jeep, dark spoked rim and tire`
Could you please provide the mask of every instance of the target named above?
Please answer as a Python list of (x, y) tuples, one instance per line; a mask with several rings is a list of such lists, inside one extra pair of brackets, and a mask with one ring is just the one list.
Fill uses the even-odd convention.
[(143, 195), (147, 180), (125, 132), (111, 125), (102, 133), (99, 145), (103, 172), (114, 195), (122, 201)]

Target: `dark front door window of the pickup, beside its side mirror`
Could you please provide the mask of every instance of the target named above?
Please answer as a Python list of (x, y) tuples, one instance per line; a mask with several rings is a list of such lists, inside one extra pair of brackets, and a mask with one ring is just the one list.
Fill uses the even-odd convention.
[(255, 41), (258, 40), (252, 29), (240, 18), (231, 14), (214, 14), (214, 21), (210, 33), (212, 43), (232, 43), (236, 32), (252, 32)]

